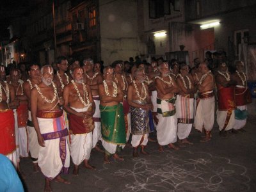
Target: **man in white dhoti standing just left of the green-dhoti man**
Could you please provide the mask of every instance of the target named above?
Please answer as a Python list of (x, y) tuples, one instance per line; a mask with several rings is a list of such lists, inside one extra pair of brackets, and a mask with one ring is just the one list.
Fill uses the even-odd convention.
[(86, 80), (86, 84), (90, 86), (92, 91), (93, 101), (95, 103), (95, 113), (93, 114), (93, 121), (95, 128), (93, 129), (92, 134), (92, 148), (99, 152), (103, 152), (102, 149), (97, 145), (98, 141), (101, 140), (101, 132), (100, 132), (100, 97), (99, 97), (99, 88), (98, 85), (102, 83), (103, 78), (102, 74), (99, 72), (93, 73), (93, 60), (86, 59), (84, 60), (84, 80)]

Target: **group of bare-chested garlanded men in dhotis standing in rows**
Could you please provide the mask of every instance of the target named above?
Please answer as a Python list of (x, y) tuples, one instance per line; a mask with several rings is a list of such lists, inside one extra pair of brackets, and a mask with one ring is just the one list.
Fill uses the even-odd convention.
[(104, 163), (111, 163), (111, 156), (124, 161), (117, 152), (129, 142), (133, 157), (139, 156), (139, 147), (147, 155), (152, 131), (156, 131), (159, 152), (164, 145), (174, 150), (192, 145), (188, 136), (193, 126), (205, 133), (202, 142), (211, 140), (215, 84), (221, 136), (229, 129), (243, 130), (246, 124), (248, 89), (241, 61), (232, 75), (225, 63), (215, 74), (205, 63), (191, 73), (185, 63), (172, 67), (167, 62), (140, 63), (129, 73), (122, 61), (115, 61), (101, 74), (93, 70), (98, 66), (91, 59), (83, 60), (82, 67), (72, 63), (68, 71), (67, 59), (61, 56), (57, 66), (54, 74), (51, 65), (31, 65), (25, 82), (17, 69), (6, 82), (5, 68), (0, 66), (0, 153), (17, 170), (19, 157), (30, 155), (34, 169), (40, 168), (45, 175), (45, 191), (51, 191), (52, 179), (70, 183), (60, 177), (61, 172), (68, 173), (70, 156), (74, 175), (81, 163), (94, 169), (88, 161), (92, 148), (101, 150), (99, 141)]

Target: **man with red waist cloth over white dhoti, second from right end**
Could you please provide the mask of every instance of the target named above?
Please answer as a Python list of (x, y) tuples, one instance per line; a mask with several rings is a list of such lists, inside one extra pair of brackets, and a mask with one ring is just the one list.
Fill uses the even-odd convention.
[(220, 136), (227, 136), (227, 131), (233, 129), (235, 124), (235, 87), (236, 82), (230, 79), (226, 63), (220, 63), (216, 72), (216, 85), (218, 89), (217, 123)]

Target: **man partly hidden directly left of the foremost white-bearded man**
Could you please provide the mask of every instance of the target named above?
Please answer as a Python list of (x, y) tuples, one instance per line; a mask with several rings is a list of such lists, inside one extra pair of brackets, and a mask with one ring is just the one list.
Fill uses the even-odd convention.
[(32, 122), (31, 118), (31, 111), (30, 111), (30, 99), (31, 99), (31, 90), (35, 86), (35, 84), (39, 84), (40, 80), (40, 67), (37, 64), (32, 64), (29, 66), (29, 79), (23, 83), (23, 90), (24, 94), (28, 99), (28, 122), (27, 122), (27, 130), (28, 130), (28, 147), (29, 147), (29, 154), (33, 161), (33, 169), (34, 172), (38, 172), (38, 151), (39, 151), (39, 144), (37, 140), (37, 134), (35, 131), (35, 127)]

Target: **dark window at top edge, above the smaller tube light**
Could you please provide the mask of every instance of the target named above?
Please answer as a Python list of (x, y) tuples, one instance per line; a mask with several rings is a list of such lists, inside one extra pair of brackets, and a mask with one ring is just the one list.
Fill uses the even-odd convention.
[(163, 17), (164, 15), (170, 15), (170, 0), (149, 0), (149, 18), (157, 19), (159, 17)]

